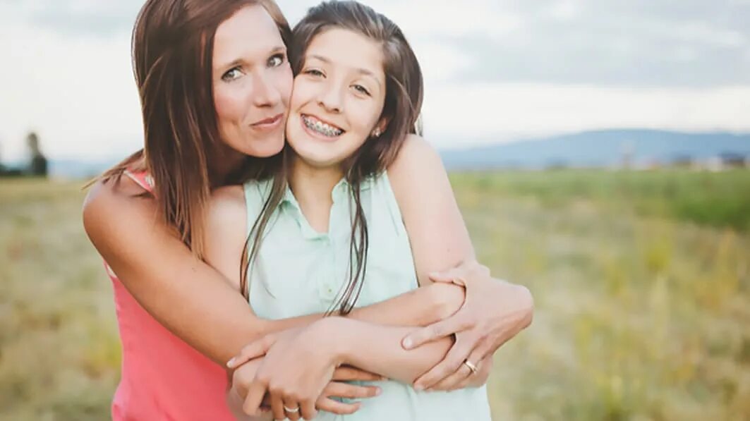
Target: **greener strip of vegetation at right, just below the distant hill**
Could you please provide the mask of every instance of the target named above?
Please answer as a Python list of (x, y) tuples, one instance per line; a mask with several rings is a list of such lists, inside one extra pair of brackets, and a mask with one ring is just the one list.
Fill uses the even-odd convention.
[(464, 173), (455, 181), (493, 195), (532, 196), (548, 207), (588, 200), (701, 225), (750, 231), (750, 171)]

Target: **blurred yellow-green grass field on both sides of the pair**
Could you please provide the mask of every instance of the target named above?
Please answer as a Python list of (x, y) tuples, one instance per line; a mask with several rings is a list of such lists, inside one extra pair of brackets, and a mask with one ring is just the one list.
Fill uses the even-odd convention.
[[(750, 419), (750, 172), (452, 176), (481, 261), (531, 288), (494, 420)], [(105, 420), (110, 282), (78, 183), (0, 181), (0, 420)]]

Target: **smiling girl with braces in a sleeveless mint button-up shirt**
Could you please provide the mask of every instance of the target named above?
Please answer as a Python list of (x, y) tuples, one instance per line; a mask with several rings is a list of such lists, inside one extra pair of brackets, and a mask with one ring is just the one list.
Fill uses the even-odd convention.
[[(272, 179), (214, 193), (208, 262), (236, 282), (258, 315), (289, 318), (347, 315), (428, 285), (426, 273), (446, 261), (471, 258), (439, 158), (409, 135), (422, 73), (398, 26), (355, 1), (324, 2), (296, 26), (292, 51), (291, 148), (269, 163)], [(425, 199), (439, 206), (422, 206)], [(408, 332), (334, 317), (282, 333), (270, 349), (259, 348), (268, 352), (263, 361), (242, 369), (258, 370), (245, 411), (254, 414), (269, 393), (275, 420), (333, 420), (316, 417), (314, 401), (301, 396), (317, 396), (344, 363), (401, 381), (383, 383), (383, 394), (353, 420), (489, 420), (484, 388), (428, 394), (408, 386), (452, 345), (446, 338), (404, 351)], [(293, 361), (302, 369), (290, 370)], [(464, 363), (461, 381), (475, 363)]]

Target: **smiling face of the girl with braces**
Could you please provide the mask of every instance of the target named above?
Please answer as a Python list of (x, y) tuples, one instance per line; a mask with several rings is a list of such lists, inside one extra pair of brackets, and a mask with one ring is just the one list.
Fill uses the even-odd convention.
[(316, 167), (340, 164), (383, 130), (386, 75), (379, 43), (332, 28), (315, 36), (294, 80), (287, 141)]

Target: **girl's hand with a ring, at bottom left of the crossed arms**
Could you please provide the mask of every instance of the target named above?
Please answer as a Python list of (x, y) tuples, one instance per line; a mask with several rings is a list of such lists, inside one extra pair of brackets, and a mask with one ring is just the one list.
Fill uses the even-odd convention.
[[(317, 414), (316, 403), (321, 396), (326, 395), (324, 391), (329, 396), (348, 393), (359, 397), (373, 393), (372, 388), (368, 388), (365, 393), (364, 390), (347, 388), (341, 384), (329, 386), (335, 369), (341, 364), (341, 357), (337, 353), (334, 336), (329, 334), (328, 320), (323, 319), (308, 327), (265, 336), (247, 345), (238, 357), (230, 360), (227, 365), (233, 368), (266, 355), (247, 387), (243, 405), (245, 414), (257, 414), (263, 405), (264, 396), (268, 394), (269, 405), (276, 420), (289, 418), (294, 421), (300, 417), (310, 420)], [(368, 380), (377, 378), (379, 377), (373, 375)], [(323, 399), (321, 403), (324, 407), (334, 406), (343, 411), (354, 409), (331, 399)], [(359, 408), (359, 405), (355, 407)]]

